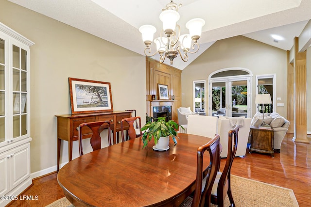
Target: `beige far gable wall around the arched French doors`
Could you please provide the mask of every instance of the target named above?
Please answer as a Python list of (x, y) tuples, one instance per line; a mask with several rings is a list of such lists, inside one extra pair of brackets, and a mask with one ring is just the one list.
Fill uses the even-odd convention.
[[(212, 72), (230, 67), (252, 71), (253, 95), (256, 89), (256, 75), (276, 74), (276, 97), (281, 97), (281, 101), (277, 103), (284, 103), (284, 107), (276, 107), (276, 112), (286, 117), (286, 51), (244, 36), (217, 41), (182, 71), (182, 106), (191, 108), (193, 106), (193, 80), (207, 80)], [(208, 80), (206, 93), (208, 97)], [(256, 110), (255, 96), (252, 97), (252, 102), (253, 115)]]

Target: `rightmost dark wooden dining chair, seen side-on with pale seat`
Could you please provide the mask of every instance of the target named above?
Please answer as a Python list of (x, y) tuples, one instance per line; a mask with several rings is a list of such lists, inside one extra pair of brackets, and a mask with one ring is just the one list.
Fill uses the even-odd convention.
[(211, 203), (217, 204), (218, 207), (223, 207), (225, 196), (228, 194), (230, 206), (235, 207), (230, 184), (230, 170), (232, 166), (235, 153), (238, 146), (239, 125), (235, 125), (232, 130), (228, 132), (228, 155), (225, 162), (223, 172), (217, 172), (215, 182), (211, 192)]

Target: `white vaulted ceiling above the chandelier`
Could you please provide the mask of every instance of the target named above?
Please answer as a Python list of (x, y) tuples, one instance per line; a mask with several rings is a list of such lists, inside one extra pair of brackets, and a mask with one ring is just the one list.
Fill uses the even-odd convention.
[[(160, 36), (159, 14), (170, 0), (9, 0), (20, 6), (49, 16), (72, 27), (98, 36), (123, 48), (144, 55), (144, 44), (138, 28), (151, 24)], [(182, 6), (178, 24), (186, 33), (186, 22), (205, 19), (200, 50), (180, 58), (173, 66), (184, 69), (215, 41), (244, 35), (284, 50), (290, 50), (311, 19), (311, 0), (175, 0)], [(272, 34), (283, 37), (274, 41)], [(157, 57), (155, 57), (157, 58)], [(169, 64), (168, 62), (165, 62)]]

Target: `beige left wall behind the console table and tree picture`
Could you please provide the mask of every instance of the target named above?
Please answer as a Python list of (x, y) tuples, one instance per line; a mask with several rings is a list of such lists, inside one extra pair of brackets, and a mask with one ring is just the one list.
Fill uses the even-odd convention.
[[(0, 22), (35, 42), (30, 58), (32, 173), (56, 165), (54, 115), (70, 113), (69, 77), (110, 82), (114, 110), (136, 109), (144, 123), (145, 57), (6, 0), (0, 5)], [(67, 146), (61, 162), (68, 161)], [(73, 154), (78, 156), (76, 142)]]

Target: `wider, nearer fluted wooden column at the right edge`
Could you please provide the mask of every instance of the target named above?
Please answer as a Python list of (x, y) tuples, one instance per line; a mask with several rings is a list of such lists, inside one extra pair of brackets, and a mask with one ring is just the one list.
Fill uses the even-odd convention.
[(307, 139), (307, 66), (306, 51), (299, 52), (298, 37), (294, 38), (294, 141)]

